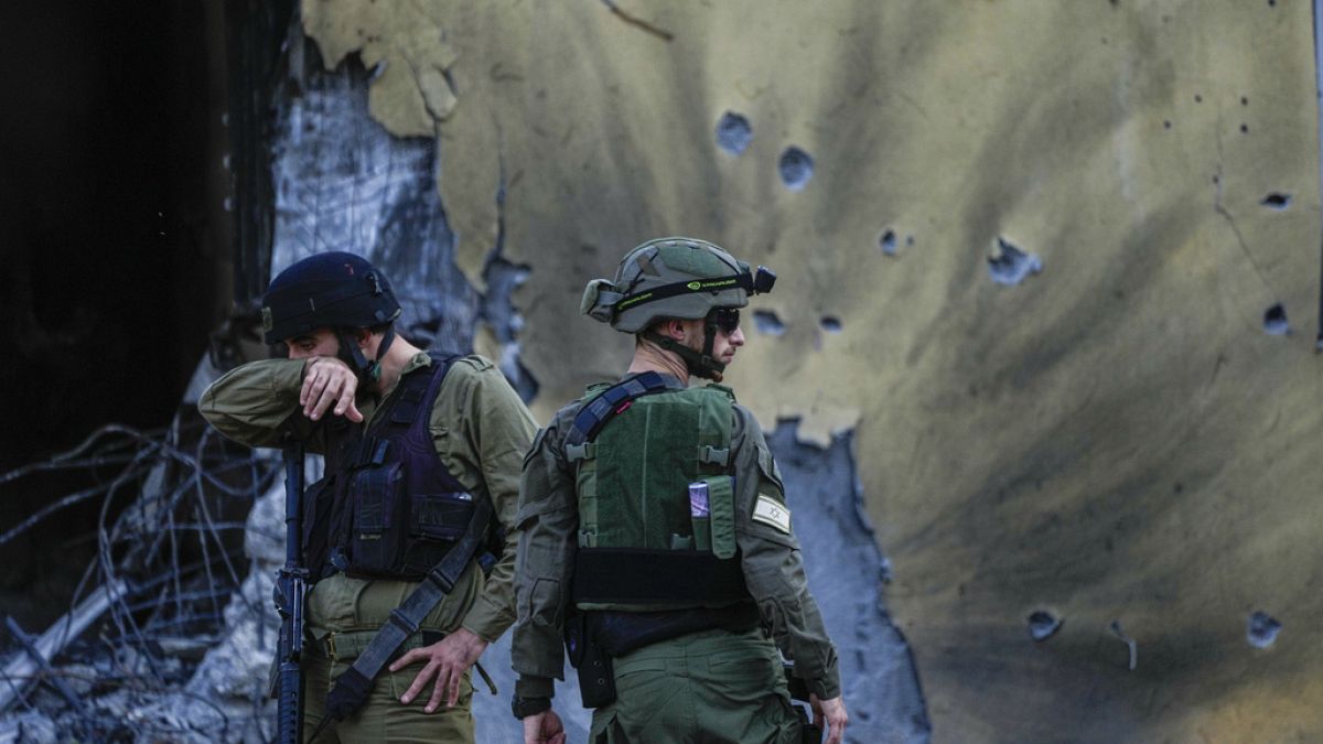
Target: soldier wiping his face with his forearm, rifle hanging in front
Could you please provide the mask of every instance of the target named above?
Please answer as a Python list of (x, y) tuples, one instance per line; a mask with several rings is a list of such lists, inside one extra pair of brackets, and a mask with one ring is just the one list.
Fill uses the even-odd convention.
[[(303, 735), (320, 724), (318, 741), (474, 741), (470, 667), (515, 620), (517, 471), (536, 422), (491, 361), (427, 353), (397, 336), (390, 283), (359, 256), (323, 253), (280, 271), (262, 315), (266, 342), (283, 343), (288, 359), (230, 371), (198, 408), (241, 443), (292, 436), (325, 455), (325, 478), (304, 496), (315, 584)], [(493, 524), (479, 524), (491, 514)], [(500, 527), (504, 543), (488, 540), (491, 553), (504, 547), (495, 565), (479, 565), (480, 551), (459, 555), (467, 565), (443, 596), (419, 581), (470, 531)], [(365, 649), (415, 590), (426, 617), (402, 655), (364, 680), (361, 708), (332, 696), (343, 720), (324, 716), (332, 684), (355, 678), (352, 665), (373, 655)]]

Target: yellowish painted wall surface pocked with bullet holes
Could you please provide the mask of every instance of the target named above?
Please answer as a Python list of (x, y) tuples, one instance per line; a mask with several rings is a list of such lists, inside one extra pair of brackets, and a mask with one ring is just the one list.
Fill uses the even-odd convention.
[(577, 315), (624, 249), (778, 269), (734, 387), (853, 432), (938, 740), (1323, 731), (1307, 3), (303, 12), (438, 143), (470, 282), (527, 267), (541, 418), (626, 359)]

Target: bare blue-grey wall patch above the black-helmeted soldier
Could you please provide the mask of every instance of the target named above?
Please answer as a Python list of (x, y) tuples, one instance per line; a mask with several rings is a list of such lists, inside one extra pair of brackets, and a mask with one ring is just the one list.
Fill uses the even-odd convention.
[(277, 111), (273, 275), (314, 253), (347, 250), (390, 277), (401, 332), (472, 348), (478, 297), (454, 266), (435, 189), (438, 144), (394, 138), (372, 116), (368, 71), (352, 57), (321, 70), (307, 49), (299, 94)]

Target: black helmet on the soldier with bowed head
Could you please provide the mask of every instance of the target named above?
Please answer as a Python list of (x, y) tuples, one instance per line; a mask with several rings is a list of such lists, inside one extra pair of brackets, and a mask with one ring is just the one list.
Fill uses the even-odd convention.
[(295, 262), (262, 298), (262, 332), (278, 344), (318, 328), (370, 328), (400, 316), (390, 282), (361, 256), (319, 253)]

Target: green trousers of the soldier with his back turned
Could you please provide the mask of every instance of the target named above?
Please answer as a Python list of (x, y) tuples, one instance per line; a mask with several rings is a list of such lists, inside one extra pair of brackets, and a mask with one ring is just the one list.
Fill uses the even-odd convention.
[(617, 657), (594, 743), (799, 743), (777, 647), (759, 629), (703, 630)]

